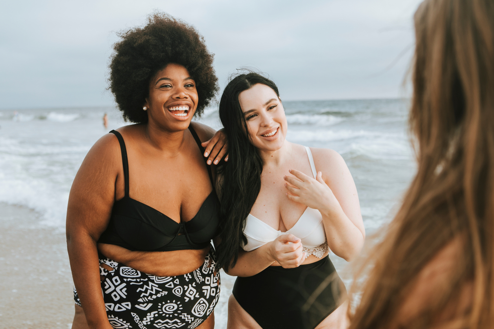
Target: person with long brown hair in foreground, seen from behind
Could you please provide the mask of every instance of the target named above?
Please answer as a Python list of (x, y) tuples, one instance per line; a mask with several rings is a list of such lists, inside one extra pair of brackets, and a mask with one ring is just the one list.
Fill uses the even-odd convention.
[(417, 174), (350, 328), (493, 328), (494, 2), (425, 0), (414, 20)]

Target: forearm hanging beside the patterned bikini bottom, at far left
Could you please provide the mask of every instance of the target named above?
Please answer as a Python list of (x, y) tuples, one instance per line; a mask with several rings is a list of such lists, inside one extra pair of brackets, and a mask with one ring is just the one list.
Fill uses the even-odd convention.
[(67, 250), (74, 285), (89, 328), (111, 329), (101, 293), (99, 259), (95, 241), (89, 235), (68, 236)]

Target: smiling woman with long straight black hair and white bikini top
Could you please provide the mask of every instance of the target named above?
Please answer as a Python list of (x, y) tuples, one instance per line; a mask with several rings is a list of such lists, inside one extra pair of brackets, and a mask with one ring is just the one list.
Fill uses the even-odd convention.
[(285, 140), (277, 86), (240, 74), (219, 105), (229, 160), (219, 169), (218, 265), (238, 276), (228, 328), (345, 328), (345, 288), (329, 250), (350, 259), (365, 231), (352, 176), (333, 150)]

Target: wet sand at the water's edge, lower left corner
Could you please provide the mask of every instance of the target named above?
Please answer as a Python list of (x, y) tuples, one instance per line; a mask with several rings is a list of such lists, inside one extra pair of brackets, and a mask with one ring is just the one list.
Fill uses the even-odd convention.
[(0, 328), (67, 329), (73, 283), (61, 229), (39, 214), (0, 203)]

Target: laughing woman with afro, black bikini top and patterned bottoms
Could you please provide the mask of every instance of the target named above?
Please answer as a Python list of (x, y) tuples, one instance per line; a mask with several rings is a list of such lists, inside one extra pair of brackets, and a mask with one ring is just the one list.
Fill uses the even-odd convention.
[[(110, 89), (135, 124), (96, 142), (71, 188), (72, 328), (210, 329), (220, 292), (210, 241), (220, 206), (202, 143), (214, 130), (191, 120), (218, 90), (213, 55), (193, 27), (165, 14), (120, 37)], [(208, 162), (225, 154), (217, 138), (207, 144)], [(133, 251), (135, 266), (97, 246)]]

